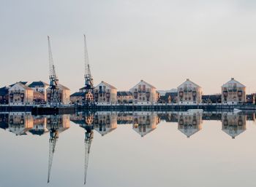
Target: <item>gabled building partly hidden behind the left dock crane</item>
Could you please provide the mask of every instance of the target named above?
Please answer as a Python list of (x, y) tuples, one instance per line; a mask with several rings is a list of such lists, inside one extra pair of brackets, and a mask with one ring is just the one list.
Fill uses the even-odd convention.
[[(58, 84), (57, 86), (58, 92), (59, 92), (59, 101), (62, 105), (68, 105), (70, 103), (70, 89), (67, 87), (64, 87), (62, 84)], [(51, 97), (51, 89), (48, 87), (46, 89), (47, 92), (47, 98), (46, 101), (49, 103), (50, 97)]]

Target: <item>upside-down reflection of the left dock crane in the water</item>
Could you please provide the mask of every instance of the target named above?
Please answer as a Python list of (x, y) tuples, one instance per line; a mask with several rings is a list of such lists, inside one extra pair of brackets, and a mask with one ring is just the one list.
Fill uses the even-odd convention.
[(49, 159), (48, 159), (48, 183), (50, 182), (50, 171), (53, 164), (53, 154), (59, 138), (59, 124), (57, 116), (50, 116), (50, 139), (49, 139)]

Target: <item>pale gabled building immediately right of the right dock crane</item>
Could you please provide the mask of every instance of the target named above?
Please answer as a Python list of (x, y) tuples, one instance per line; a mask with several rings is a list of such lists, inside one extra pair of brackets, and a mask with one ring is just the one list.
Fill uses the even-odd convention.
[(116, 104), (117, 89), (105, 81), (94, 88), (94, 101), (97, 104)]

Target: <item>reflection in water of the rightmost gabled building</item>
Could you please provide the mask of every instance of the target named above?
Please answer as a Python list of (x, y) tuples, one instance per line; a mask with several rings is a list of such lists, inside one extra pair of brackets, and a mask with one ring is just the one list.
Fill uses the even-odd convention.
[(222, 114), (222, 130), (233, 139), (246, 130), (246, 116), (242, 114)]

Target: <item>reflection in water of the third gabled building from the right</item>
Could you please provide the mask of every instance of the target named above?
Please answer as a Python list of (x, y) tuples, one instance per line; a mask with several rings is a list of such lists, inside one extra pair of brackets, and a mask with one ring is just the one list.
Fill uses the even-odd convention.
[(136, 112), (133, 117), (132, 129), (138, 132), (141, 137), (156, 129), (160, 122), (159, 116), (153, 112)]

